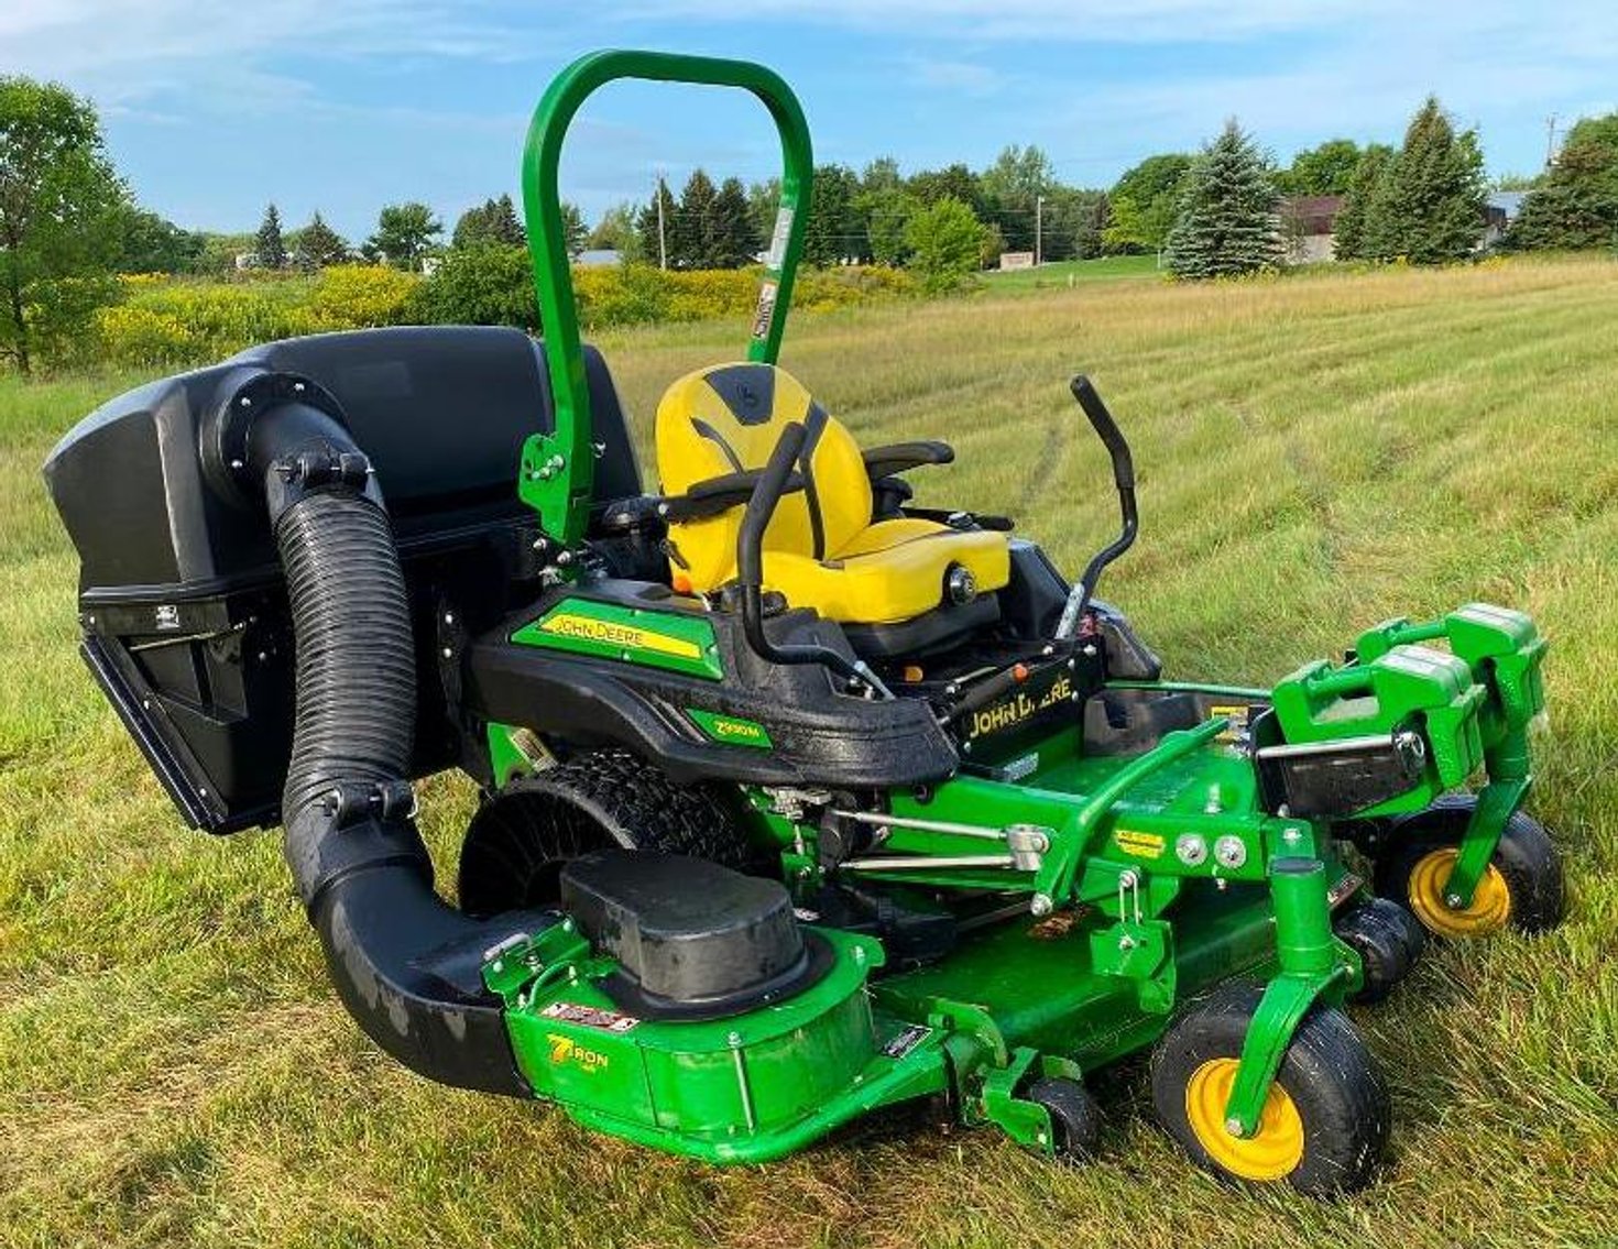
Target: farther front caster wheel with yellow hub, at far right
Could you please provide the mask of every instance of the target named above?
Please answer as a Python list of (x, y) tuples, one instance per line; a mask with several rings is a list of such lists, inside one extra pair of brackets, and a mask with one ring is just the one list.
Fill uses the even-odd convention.
[(1523, 811), (1506, 820), (1471, 906), (1445, 903), (1443, 882), (1474, 806), (1469, 794), (1443, 798), (1396, 820), (1377, 854), (1377, 893), (1404, 906), (1435, 937), (1487, 937), (1503, 927), (1550, 932), (1566, 909), (1561, 856), (1545, 827)]

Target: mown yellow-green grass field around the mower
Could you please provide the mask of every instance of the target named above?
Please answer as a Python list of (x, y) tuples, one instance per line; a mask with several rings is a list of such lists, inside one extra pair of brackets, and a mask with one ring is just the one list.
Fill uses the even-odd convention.
[[(1351, 1200), (1192, 1171), (1137, 1066), (1100, 1162), (864, 1126), (707, 1170), (560, 1113), (429, 1086), (337, 1005), (275, 833), (180, 827), (74, 655), (76, 566), (39, 484), (134, 377), (0, 380), (0, 1244), (1618, 1244), (1618, 264), (1183, 288), (1079, 285), (827, 314), (786, 364), (867, 440), (945, 437), (927, 502), (1008, 510), (1074, 568), (1115, 526), (1066, 392), (1136, 447), (1144, 536), (1103, 595), (1170, 675), (1272, 680), (1474, 597), (1552, 636), (1537, 814), (1555, 935), (1429, 958), (1356, 1019), (1395, 1095)], [(644, 422), (738, 325), (605, 341)], [(426, 786), (448, 869), (466, 786)], [(453, 870), (445, 870), (453, 879)]]

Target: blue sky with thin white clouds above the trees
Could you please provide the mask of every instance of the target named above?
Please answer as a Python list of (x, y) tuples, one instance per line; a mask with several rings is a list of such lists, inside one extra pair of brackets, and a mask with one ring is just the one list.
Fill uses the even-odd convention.
[[(1235, 115), (1283, 162), (1332, 136), (1396, 139), (1429, 91), (1493, 173), (1531, 171), (1547, 118), (1618, 107), (1613, 0), (18, 0), (0, 73), (102, 108), (118, 167), (193, 228), (251, 230), (273, 199), (362, 238), (377, 207), (447, 220), (518, 191), (527, 116), (597, 47), (762, 60), (799, 92), (820, 160), (989, 163), (1036, 142), (1105, 186)], [(594, 218), (663, 170), (754, 180), (773, 131), (738, 92), (620, 84), (581, 113), (563, 191)]]

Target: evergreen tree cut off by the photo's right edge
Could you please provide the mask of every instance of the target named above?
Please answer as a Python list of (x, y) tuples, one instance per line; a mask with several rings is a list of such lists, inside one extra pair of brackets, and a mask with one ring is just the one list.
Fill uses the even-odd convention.
[(1618, 113), (1579, 121), (1506, 233), (1510, 248), (1618, 246)]

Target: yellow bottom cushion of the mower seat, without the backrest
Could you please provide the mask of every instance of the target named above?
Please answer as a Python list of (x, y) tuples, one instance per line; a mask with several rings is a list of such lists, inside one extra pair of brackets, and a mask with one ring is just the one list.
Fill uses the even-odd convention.
[[(872, 547), (870, 534), (900, 540)], [(1005, 534), (963, 532), (916, 519), (882, 521), (832, 560), (764, 552), (764, 586), (794, 607), (814, 607), (827, 620), (888, 624), (938, 607), (950, 565), (966, 568), (979, 591), (1000, 589), (1011, 578)]]

